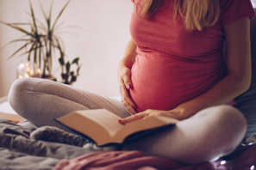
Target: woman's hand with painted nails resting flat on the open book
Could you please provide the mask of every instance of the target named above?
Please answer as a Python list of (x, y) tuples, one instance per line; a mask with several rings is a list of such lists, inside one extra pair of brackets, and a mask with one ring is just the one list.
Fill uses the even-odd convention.
[(172, 109), (171, 111), (160, 111), (160, 110), (148, 109), (144, 112), (138, 112), (128, 118), (122, 118), (121, 120), (119, 120), (119, 123), (126, 124), (126, 123), (132, 122), (137, 119), (150, 118), (153, 116), (164, 116), (167, 118), (175, 118), (178, 120), (187, 118), (184, 115), (184, 109), (182, 107), (176, 107), (175, 109)]

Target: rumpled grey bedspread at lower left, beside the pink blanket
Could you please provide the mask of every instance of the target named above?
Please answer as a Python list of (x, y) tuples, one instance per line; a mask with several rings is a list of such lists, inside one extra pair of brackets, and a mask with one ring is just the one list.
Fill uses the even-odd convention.
[(32, 130), (0, 118), (0, 169), (53, 169), (61, 159), (93, 152), (62, 143), (32, 140)]

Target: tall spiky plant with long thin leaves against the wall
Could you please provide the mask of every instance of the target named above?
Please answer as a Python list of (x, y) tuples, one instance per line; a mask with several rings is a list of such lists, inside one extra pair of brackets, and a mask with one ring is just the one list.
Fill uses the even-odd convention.
[[(45, 10), (42, 8), (41, 2), (41, 12), (45, 18), (45, 24), (39, 20), (37, 20), (34, 16), (34, 9), (30, 3), (30, 14), (31, 21), (28, 23), (6, 23), (4, 21), (0, 21), (6, 26), (12, 27), (22, 33), (24, 36), (21, 39), (14, 39), (9, 42), (24, 42), (24, 44), (16, 50), (9, 58), (15, 56), (18, 52), (22, 52), (22, 55), (28, 55), (28, 61), (34, 62), (38, 65), (38, 68), (42, 68), (41, 77), (42, 78), (51, 78), (52, 75), (52, 64), (53, 64), (53, 52), (57, 50), (59, 52), (60, 58), (65, 58), (65, 52), (63, 45), (60, 43), (62, 39), (56, 34), (56, 30), (59, 28), (56, 26), (59, 21), (59, 17), (62, 15), (63, 11), (66, 9), (68, 3), (71, 0), (68, 0), (65, 6), (60, 10), (59, 15), (57, 16), (55, 21), (52, 21), (52, 10), (53, 3), (50, 6), (50, 10), (48, 15)], [(22, 26), (29, 26), (30, 30), (23, 28)]]

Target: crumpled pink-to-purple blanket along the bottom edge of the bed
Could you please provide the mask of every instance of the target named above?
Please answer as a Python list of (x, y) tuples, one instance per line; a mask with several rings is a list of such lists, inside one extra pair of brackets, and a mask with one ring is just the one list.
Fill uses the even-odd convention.
[(140, 151), (95, 152), (70, 161), (61, 160), (53, 170), (214, 170), (256, 169), (256, 145), (232, 161), (218, 160), (200, 165), (185, 166), (176, 161), (149, 156)]

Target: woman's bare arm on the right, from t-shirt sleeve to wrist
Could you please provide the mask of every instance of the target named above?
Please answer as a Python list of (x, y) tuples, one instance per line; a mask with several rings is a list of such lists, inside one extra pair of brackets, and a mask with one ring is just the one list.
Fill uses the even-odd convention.
[(251, 44), (249, 18), (224, 25), (227, 42), (228, 76), (204, 94), (178, 106), (188, 118), (200, 110), (228, 103), (247, 91), (251, 83)]

